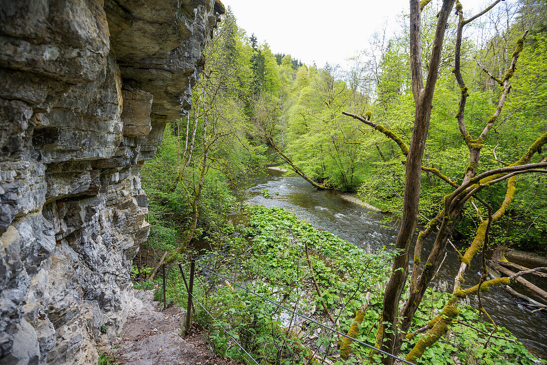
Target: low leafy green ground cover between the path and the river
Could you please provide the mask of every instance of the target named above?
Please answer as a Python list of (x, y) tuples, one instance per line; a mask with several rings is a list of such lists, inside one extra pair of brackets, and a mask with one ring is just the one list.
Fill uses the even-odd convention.
[[(354, 335), (360, 341), (376, 344), (383, 285), (389, 275), (390, 261), (397, 252), (389, 248), (364, 252), (277, 207), (246, 207), (242, 224), (235, 230), (224, 230), (225, 238), (222, 242), (211, 242), (213, 250), (200, 256), (199, 265), (343, 333), (347, 333), (366, 293), (370, 292), (370, 304)], [(188, 268), (188, 265), (184, 267)], [(371, 355), (369, 349), (356, 344), (352, 345), (348, 360), (341, 360), (338, 338), (331, 331), (197, 268), (194, 283), (196, 320), (208, 331), (217, 352), (249, 363), (251, 360), (235, 344), (235, 339), (259, 363), (292, 364), (322, 361), (323, 358), (339, 364), (379, 362), (377, 355)], [(188, 270), (186, 274), (189, 274)], [(187, 297), (178, 268), (168, 270), (167, 282), (168, 300), (185, 306)], [(444, 289), (441, 286), (428, 289), (414, 318), (413, 331), (425, 326), (432, 313), (444, 308), (450, 298)], [(161, 294), (158, 290), (156, 299), (160, 299)], [(505, 328), (499, 327), (487, 341), (492, 326), (481, 320), (469, 302), (461, 303), (459, 309), (461, 314), (457, 319), (466, 325), (455, 323), (449, 334), (424, 352), (418, 363), (537, 362)], [(408, 352), (422, 335), (405, 341), (401, 354)]]

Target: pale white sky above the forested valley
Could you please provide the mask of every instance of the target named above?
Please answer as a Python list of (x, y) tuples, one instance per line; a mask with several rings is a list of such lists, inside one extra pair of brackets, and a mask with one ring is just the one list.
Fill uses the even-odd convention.
[[(368, 46), (383, 25), (408, 12), (409, 0), (223, 0), (237, 24), (274, 53), (290, 54), (307, 65), (345, 65), (345, 59)], [(391, 33), (393, 30), (391, 28)]]

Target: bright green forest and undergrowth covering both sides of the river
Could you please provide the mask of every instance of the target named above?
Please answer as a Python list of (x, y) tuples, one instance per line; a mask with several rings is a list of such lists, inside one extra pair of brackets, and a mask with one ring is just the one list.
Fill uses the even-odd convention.
[[(496, 0), (477, 13), (453, 0), (410, 3), (392, 36), (379, 29), (346, 66), (322, 67), (274, 53), (228, 7), (202, 54), (193, 109), (167, 125), (142, 169), (152, 228), (134, 274), (160, 280), (162, 266), (187, 270), (198, 258), (410, 363), (541, 363), (547, 350), (498, 325), (481, 297), (536, 278), (539, 299), (521, 316), (535, 310), (547, 325), (546, 268), (507, 274), (501, 263), (509, 248), (547, 257), (547, 2)], [(266, 165), (377, 207), (396, 236), (362, 250), (275, 204), (246, 204)], [(457, 269), (440, 285), (449, 251)], [(465, 282), (468, 271), (478, 279)], [(183, 288), (169, 270), (168, 297), (185, 306)], [(197, 308), (196, 320), (235, 360), (399, 363), (317, 326), (298, 334), (227, 282), (194, 290), (222, 318)]]

